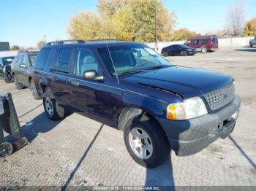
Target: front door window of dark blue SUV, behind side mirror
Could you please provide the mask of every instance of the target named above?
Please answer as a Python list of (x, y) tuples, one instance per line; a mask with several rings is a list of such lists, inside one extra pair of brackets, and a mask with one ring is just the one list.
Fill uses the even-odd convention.
[(99, 72), (99, 65), (94, 54), (88, 49), (78, 49), (75, 58), (74, 74), (83, 77), (83, 73), (89, 70)]

